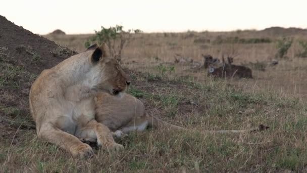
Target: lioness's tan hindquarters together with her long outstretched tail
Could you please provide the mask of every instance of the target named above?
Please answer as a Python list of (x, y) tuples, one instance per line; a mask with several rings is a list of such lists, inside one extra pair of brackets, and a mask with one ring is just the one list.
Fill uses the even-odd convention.
[[(109, 127), (115, 137), (121, 137), (134, 130), (144, 131), (148, 126), (190, 131), (147, 114), (143, 103), (126, 93), (123, 93), (122, 98), (114, 97), (108, 93), (99, 93), (96, 97), (95, 119)], [(259, 125), (259, 128), (254, 129), (201, 131), (201, 133), (248, 133), (262, 131), (266, 128), (268, 127)], [(94, 142), (94, 139), (86, 137), (83, 140)]]

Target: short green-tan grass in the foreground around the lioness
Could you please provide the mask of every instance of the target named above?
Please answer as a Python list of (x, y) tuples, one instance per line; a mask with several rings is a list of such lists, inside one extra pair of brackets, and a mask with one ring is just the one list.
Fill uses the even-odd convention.
[[(242, 135), (148, 130), (118, 141), (124, 151), (96, 148), (88, 160), (71, 158), (39, 141), (35, 130), (18, 128), (0, 148), (3, 172), (221, 172), (305, 171), (307, 127), (304, 104), (294, 98), (245, 92), (223, 80), (131, 72), (128, 93), (151, 114), (190, 129), (244, 129), (266, 124), (268, 131)], [(17, 117), (20, 118), (20, 117)], [(24, 122), (27, 123), (27, 122)], [(135, 135), (135, 136), (134, 136)]]

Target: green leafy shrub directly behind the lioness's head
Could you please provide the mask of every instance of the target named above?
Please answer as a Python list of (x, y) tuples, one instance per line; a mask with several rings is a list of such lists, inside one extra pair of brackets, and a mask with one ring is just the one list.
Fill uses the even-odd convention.
[(122, 51), (127, 46), (132, 33), (141, 33), (140, 29), (123, 30), (123, 26), (116, 25), (115, 27), (105, 28), (101, 26), (100, 31), (95, 30), (95, 35), (87, 40), (84, 44), (88, 48), (93, 42), (98, 45), (105, 42), (109, 47), (109, 54), (118, 60), (121, 60)]

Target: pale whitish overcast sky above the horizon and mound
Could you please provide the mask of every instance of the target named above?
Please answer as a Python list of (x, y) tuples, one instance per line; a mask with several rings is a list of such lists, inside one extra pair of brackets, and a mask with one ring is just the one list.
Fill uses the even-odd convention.
[(307, 1), (2, 0), (0, 15), (37, 34), (93, 33), (116, 24), (144, 32), (307, 28)]

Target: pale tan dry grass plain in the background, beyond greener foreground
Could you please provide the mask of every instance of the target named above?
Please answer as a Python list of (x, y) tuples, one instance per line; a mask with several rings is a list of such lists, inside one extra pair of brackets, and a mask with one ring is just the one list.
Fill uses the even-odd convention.
[[(66, 46), (77, 52), (84, 51), (84, 42), (92, 35), (45, 35), (57, 44)], [(287, 59), (278, 59), (279, 64), (271, 67), (270, 62), (275, 59), (277, 52), (276, 40), (282, 36), (294, 39), (287, 53)], [(239, 38), (245, 40), (266, 38), (269, 43), (247, 44), (238, 41), (219, 41)], [(174, 55), (190, 57), (194, 61), (203, 63), (201, 54), (211, 54), (219, 59), (223, 54), (234, 57), (233, 64), (244, 64), (252, 69), (254, 79), (229, 80), (238, 87), (246, 90), (263, 90), (307, 98), (307, 59), (298, 58), (301, 51), (298, 40), (307, 40), (307, 30), (268, 28), (262, 31), (234, 31), (234, 32), (186, 32), (186, 33), (143, 33), (134, 34), (123, 53), (123, 62), (130, 69), (145, 72), (159, 72), (159, 65), (174, 66), (171, 76), (194, 76), (196, 81), (208, 81), (207, 71), (190, 70), (191, 66), (171, 64)], [(247, 42), (247, 41), (246, 41)], [(265, 69), (265, 70), (263, 70)]]

